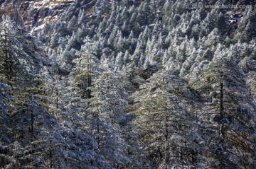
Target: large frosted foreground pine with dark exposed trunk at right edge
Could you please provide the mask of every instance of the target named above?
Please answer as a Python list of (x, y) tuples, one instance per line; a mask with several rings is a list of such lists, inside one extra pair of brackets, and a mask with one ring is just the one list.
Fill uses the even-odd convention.
[(253, 168), (255, 103), (245, 74), (232, 60), (215, 57), (200, 79), (194, 86), (206, 99), (203, 119), (215, 129), (208, 167)]

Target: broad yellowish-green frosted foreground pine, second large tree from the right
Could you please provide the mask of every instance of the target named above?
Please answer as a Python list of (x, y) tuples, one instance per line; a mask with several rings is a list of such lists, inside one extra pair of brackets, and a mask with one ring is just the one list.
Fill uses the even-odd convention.
[[(185, 98), (185, 96), (188, 96)], [(186, 82), (164, 71), (134, 93), (135, 124), (149, 153), (146, 168), (200, 168), (203, 136), (198, 118), (187, 106), (200, 100)], [(199, 162), (201, 161), (201, 162)]]

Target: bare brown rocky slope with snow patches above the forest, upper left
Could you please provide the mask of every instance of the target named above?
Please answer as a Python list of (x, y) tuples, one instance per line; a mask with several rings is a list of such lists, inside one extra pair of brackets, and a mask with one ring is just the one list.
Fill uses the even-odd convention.
[[(70, 21), (73, 16), (78, 16), (81, 9), (90, 18), (95, 11), (101, 11), (99, 6), (112, 8), (118, 2), (119, 0), (0, 0), (0, 21), (1, 16), (7, 14), (23, 28), (33, 32), (43, 28), (46, 22), (52, 23), (60, 18)], [(139, 2), (131, 1), (132, 4)]]

